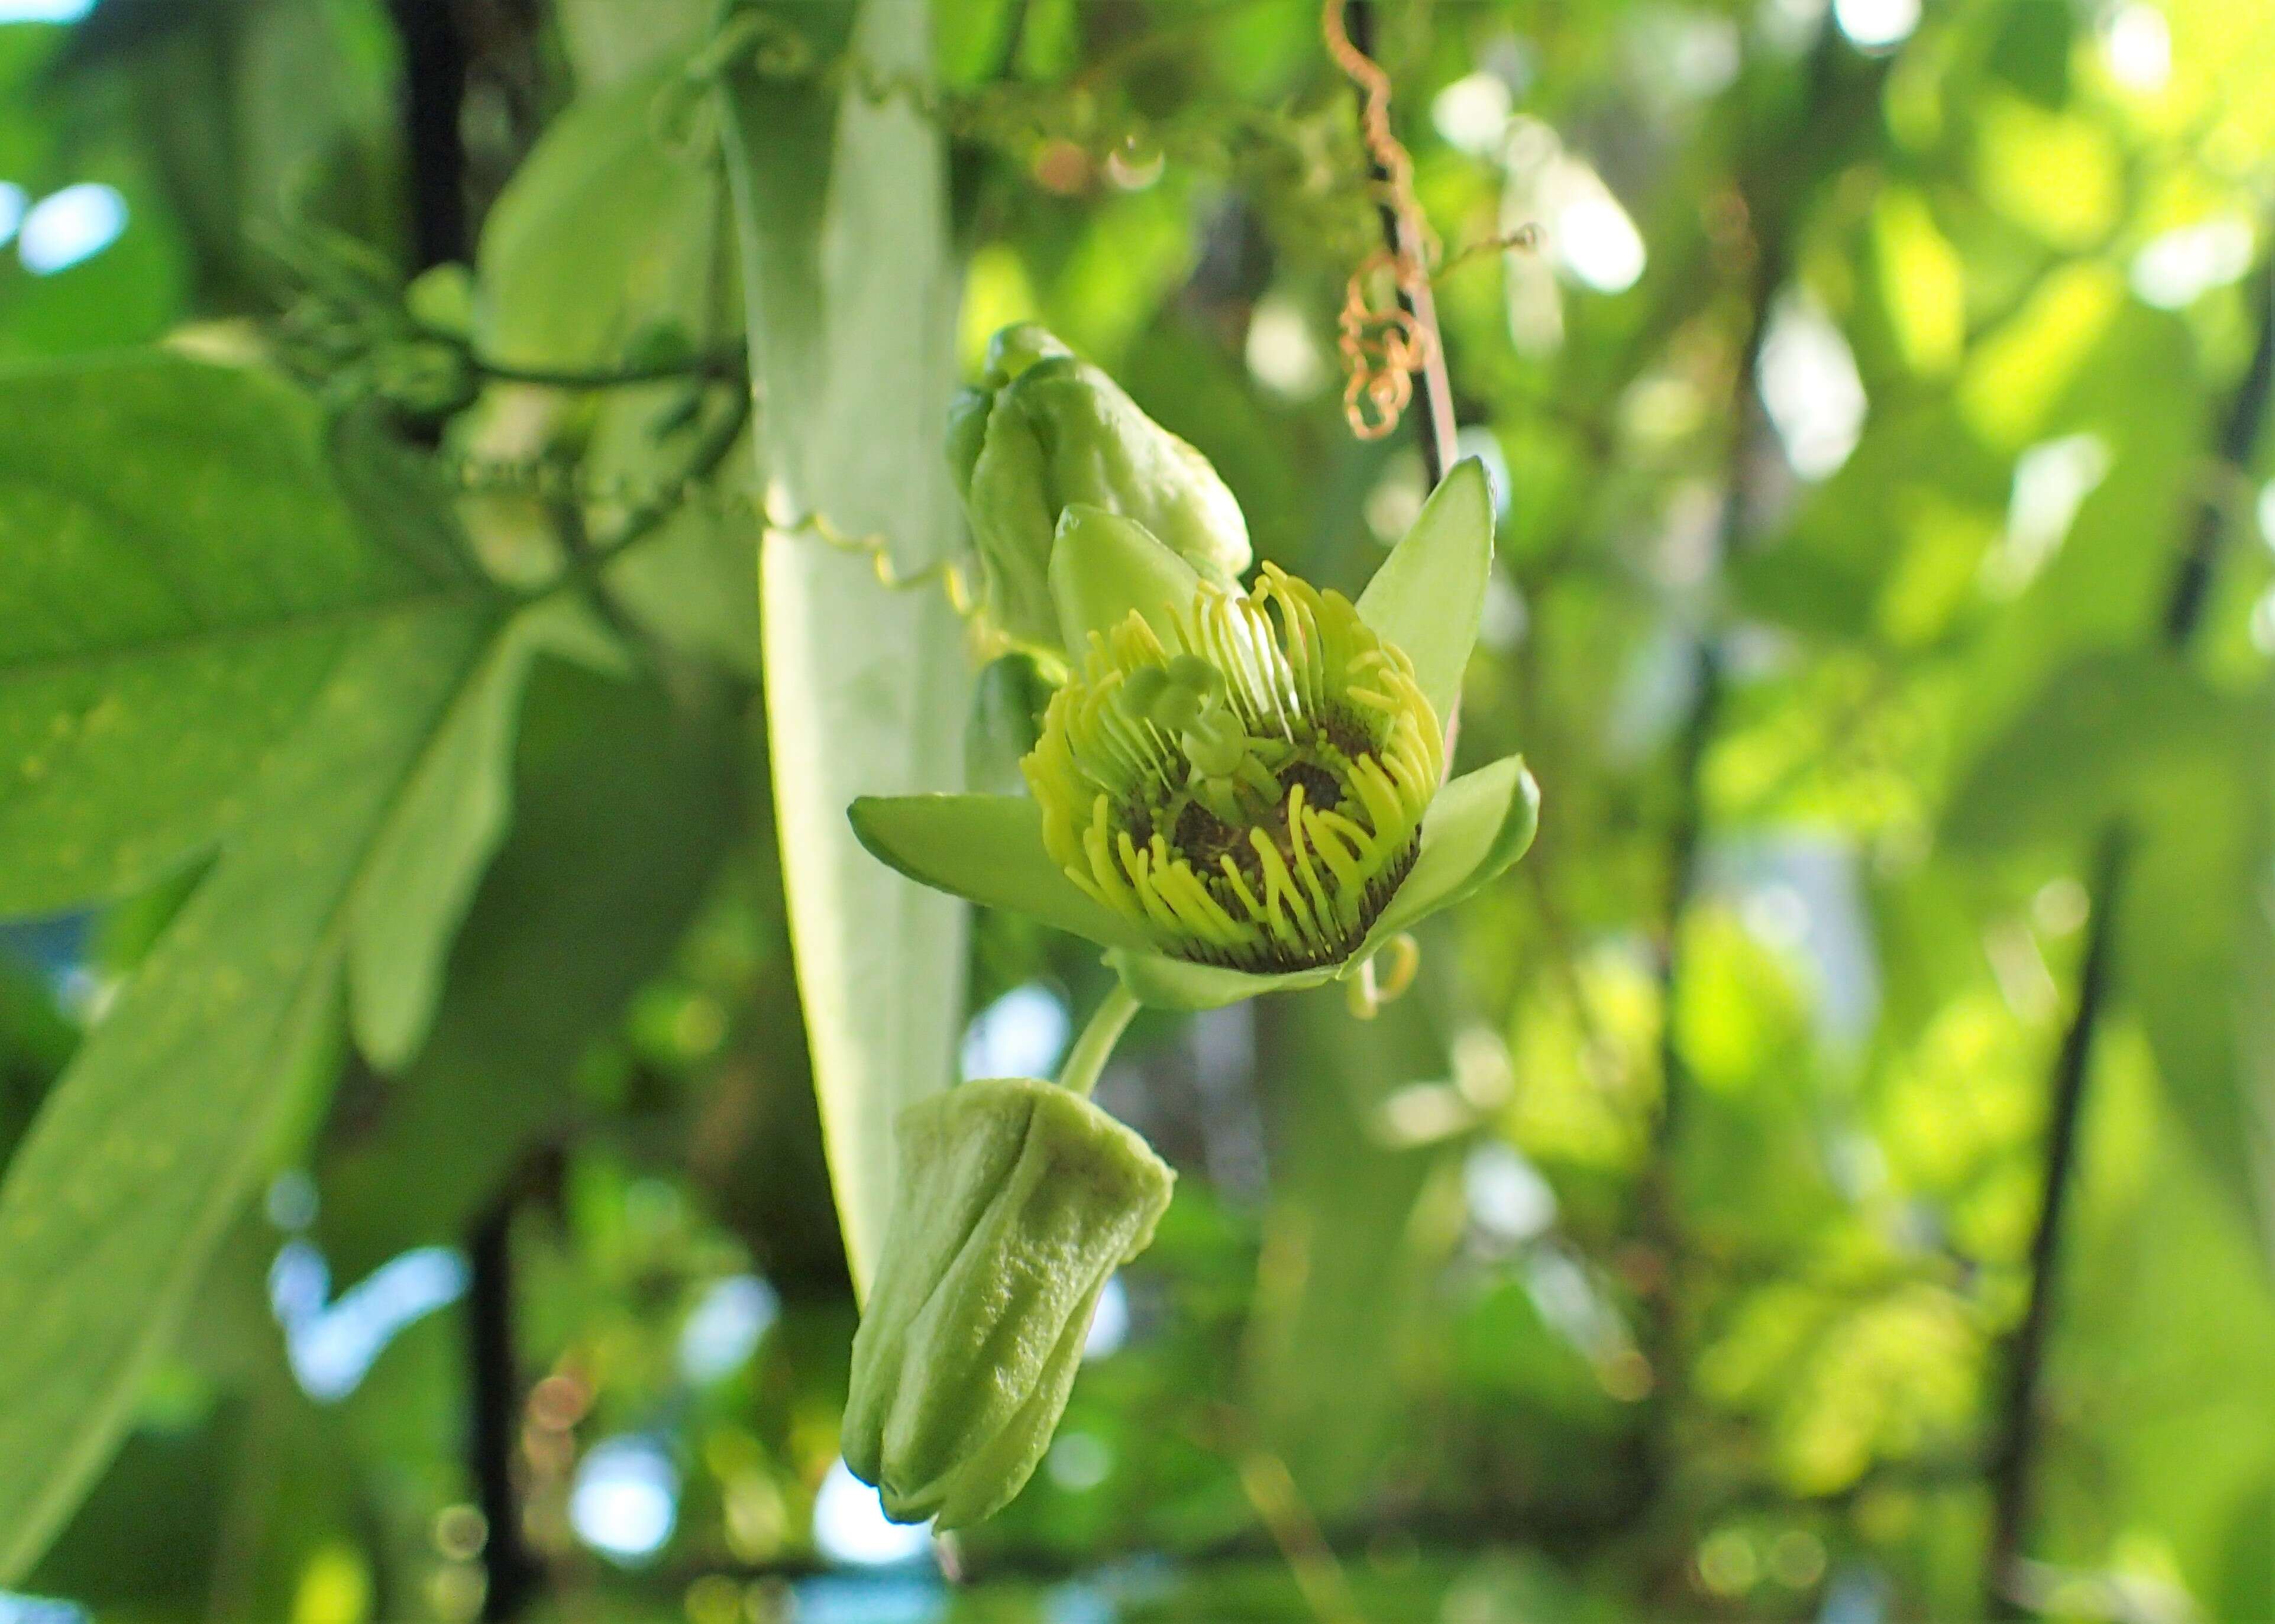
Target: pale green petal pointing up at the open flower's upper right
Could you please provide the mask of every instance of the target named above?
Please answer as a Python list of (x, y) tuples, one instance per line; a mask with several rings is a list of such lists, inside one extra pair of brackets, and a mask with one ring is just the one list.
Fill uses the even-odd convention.
[(1451, 716), (1461, 698), (1461, 673), (1476, 644), (1490, 575), (1492, 487), (1486, 464), (1463, 457), (1358, 594), (1358, 619), (1415, 662), (1415, 678), (1438, 721)]

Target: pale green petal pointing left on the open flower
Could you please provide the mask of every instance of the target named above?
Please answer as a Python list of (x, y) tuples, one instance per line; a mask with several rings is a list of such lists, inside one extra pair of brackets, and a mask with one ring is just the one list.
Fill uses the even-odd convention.
[(1026, 796), (862, 796), (846, 817), (860, 844), (910, 880), (1033, 914), (1099, 946), (1147, 946), (1138, 926), (1090, 901), (1051, 862), (1042, 810)]

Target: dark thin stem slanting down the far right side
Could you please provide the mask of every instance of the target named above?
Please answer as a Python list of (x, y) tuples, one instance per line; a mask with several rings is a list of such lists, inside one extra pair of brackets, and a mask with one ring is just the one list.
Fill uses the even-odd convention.
[[(2275, 393), (2275, 257), (2259, 275), (2259, 341), (2236, 396), (2220, 423), (2220, 473), (2250, 464), (2266, 430), (2268, 398)], [(2218, 482), (2216, 482), (2218, 484)], [(2189, 516), (2186, 546), (2164, 605), (2164, 639), (2173, 653), (2184, 653), (2204, 619), (2227, 512), (2220, 489), (2207, 489)], [(1991, 1447), (1991, 1542), (1984, 1563), (1984, 1608), (1993, 1617), (2020, 1617), (2025, 1592), (2018, 1583), (2022, 1547), (2036, 1488), (2038, 1449), (2043, 1440), (2045, 1351), (2054, 1326), (2054, 1299), (2061, 1290), (2063, 1212), (2077, 1178), (2077, 1126), (2086, 1105), (2086, 1078), (2093, 1064), (2093, 1039), (2109, 1003), (2111, 958), (2116, 953), (2116, 914), (2125, 887), (2127, 835), (2123, 826), (2102, 830), (2093, 867), (2091, 930), (2077, 973), (2077, 1008), (2054, 1055), (2048, 1085), (2045, 1119), (2045, 1187), (2038, 1196), (2038, 1219), (2029, 1237), (2029, 1301), (2007, 1349), (2007, 1408), (2000, 1415), (2000, 1437)]]

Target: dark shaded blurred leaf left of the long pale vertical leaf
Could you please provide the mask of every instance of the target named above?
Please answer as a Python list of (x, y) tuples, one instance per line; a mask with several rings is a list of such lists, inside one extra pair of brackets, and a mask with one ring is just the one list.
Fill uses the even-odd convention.
[(737, 716), (544, 660), (514, 801), (432, 1037), (318, 1171), (318, 1237), (344, 1281), (464, 1235), (560, 1128), (578, 1060), (667, 962), (739, 826)]

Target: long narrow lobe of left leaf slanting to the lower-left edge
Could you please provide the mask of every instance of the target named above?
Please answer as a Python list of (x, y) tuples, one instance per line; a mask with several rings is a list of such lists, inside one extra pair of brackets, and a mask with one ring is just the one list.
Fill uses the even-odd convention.
[(109, 1458), (205, 1262), (303, 1119), (371, 848), (489, 625), (485, 607), (425, 605), (355, 641), (9, 1165), (0, 1583)]

